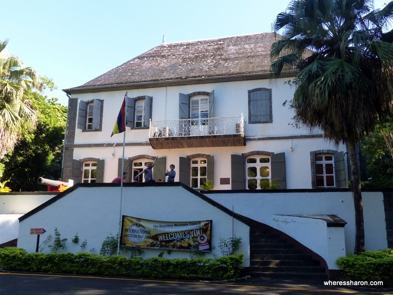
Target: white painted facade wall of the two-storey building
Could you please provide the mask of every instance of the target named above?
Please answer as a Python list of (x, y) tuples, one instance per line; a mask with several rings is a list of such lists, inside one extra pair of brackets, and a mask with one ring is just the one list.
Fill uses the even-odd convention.
[[(333, 143), (321, 138), (315, 139), (275, 139), (261, 140), (271, 136), (309, 135), (306, 128), (299, 129), (290, 125), (293, 110), (282, 106), (284, 101), (293, 97), (294, 88), (285, 84), (285, 79), (272, 84), (269, 80), (254, 80), (240, 82), (226, 82), (201, 85), (186, 85), (175, 87), (161, 87), (150, 89), (132, 89), (128, 91), (129, 97), (148, 95), (153, 97), (152, 120), (178, 119), (179, 93), (195, 91), (215, 91), (214, 117), (241, 116), (245, 124), (246, 146), (244, 147), (212, 147), (212, 148), (178, 148), (178, 149), (153, 149), (149, 144), (149, 130), (126, 130), (126, 143), (138, 144), (125, 148), (125, 158), (136, 155), (166, 156), (167, 166), (175, 164), (178, 171), (179, 157), (196, 153), (214, 155), (214, 188), (218, 190), (230, 189), (231, 184), (220, 184), (220, 178), (231, 177), (231, 154), (241, 154), (254, 150), (268, 152), (285, 152), (286, 161), (286, 188), (311, 188), (310, 151), (332, 149), (345, 151), (344, 146), (335, 147)], [(248, 90), (255, 88), (272, 89), (273, 122), (248, 124)], [(83, 132), (76, 129), (75, 144), (105, 143), (105, 147), (74, 148), (74, 159), (94, 157), (105, 160), (104, 182), (111, 182), (117, 176), (118, 158), (122, 157), (123, 134), (111, 137), (114, 122), (126, 91), (110, 91), (97, 93), (73, 94), (79, 100), (102, 99), (104, 101), (102, 131)], [(290, 147), (293, 147), (292, 149)], [(113, 156), (112, 156), (113, 154)], [(245, 172), (246, 173), (246, 172)], [(177, 174), (175, 180), (179, 178)], [(63, 179), (67, 181), (67, 179)]]

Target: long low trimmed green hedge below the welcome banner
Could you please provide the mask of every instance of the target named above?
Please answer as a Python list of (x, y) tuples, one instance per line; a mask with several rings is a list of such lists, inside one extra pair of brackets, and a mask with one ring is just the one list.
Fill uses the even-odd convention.
[(155, 279), (225, 280), (238, 278), (243, 254), (219, 258), (127, 258), (83, 253), (28, 253), (22, 248), (0, 249), (5, 270)]

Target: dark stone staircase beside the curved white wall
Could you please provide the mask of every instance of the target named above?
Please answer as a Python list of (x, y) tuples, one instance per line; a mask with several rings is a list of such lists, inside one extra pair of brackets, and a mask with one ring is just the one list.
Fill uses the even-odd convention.
[(250, 228), (250, 275), (326, 280), (325, 267), (269, 229)]

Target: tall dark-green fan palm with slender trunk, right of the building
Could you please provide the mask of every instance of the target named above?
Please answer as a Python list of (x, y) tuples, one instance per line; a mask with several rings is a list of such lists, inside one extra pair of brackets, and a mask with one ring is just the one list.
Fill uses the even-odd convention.
[(272, 45), (274, 78), (297, 73), (295, 120), (321, 128), (347, 146), (355, 205), (355, 253), (364, 251), (363, 200), (355, 145), (392, 106), (393, 1), (373, 10), (373, 0), (292, 0), (277, 16)]

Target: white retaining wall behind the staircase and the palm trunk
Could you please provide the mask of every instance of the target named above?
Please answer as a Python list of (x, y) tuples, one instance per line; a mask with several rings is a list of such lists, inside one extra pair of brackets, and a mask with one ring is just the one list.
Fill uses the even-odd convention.
[[(327, 192), (290, 192), (275, 193), (225, 193), (209, 192), (206, 195), (212, 200), (232, 209), (236, 213), (277, 228), (275, 216), (281, 215), (315, 215), (334, 214), (347, 222), (344, 227), (345, 253), (353, 253), (355, 249), (355, 212), (351, 191)], [(365, 248), (370, 251), (386, 249), (386, 223), (381, 192), (362, 192), (364, 206)], [(251, 206), (252, 204), (252, 206)], [(298, 231), (298, 232), (296, 232)], [(304, 228), (293, 228), (291, 233), (295, 239), (302, 236)], [(323, 257), (323, 247), (318, 245), (319, 233), (315, 236), (299, 240), (309, 249), (317, 249)], [(325, 234), (326, 236), (326, 234)]]

